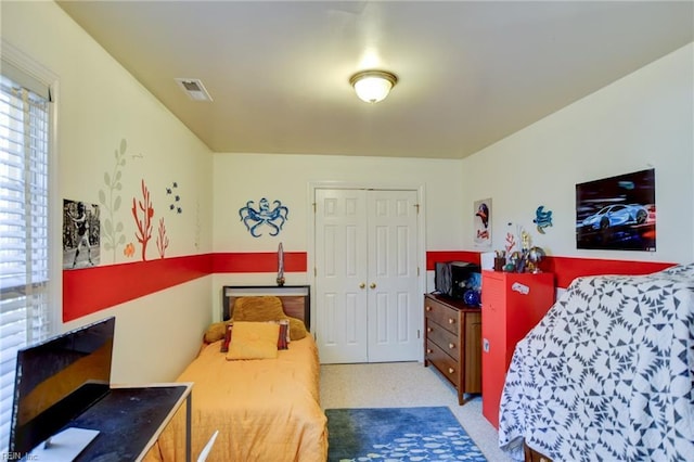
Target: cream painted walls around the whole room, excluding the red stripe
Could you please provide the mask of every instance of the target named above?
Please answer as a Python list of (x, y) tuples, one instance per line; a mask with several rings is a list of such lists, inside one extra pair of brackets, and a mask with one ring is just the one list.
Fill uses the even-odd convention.
[[(463, 161), (211, 155), (55, 3), (2, 2), (1, 21), (3, 40), (60, 77), (61, 197), (99, 203), (104, 172), (112, 171), (114, 152), (126, 139), (124, 200), (138, 196), (143, 179), (157, 207), (167, 204), (164, 191), (172, 181), (183, 188), (184, 219), (170, 218), (169, 256), (275, 252), (279, 242), (286, 252), (308, 252), (308, 185), (335, 181), (421, 185), (426, 251), (475, 249), (473, 202), (492, 197), (494, 248), (503, 246), (506, 223), (512, 222), (511, 229), (526, 227), (535, 244), (552, 255), (694, 259), (692, 44)], [(577, 251), (575, 184), (650, 167), (656, 169), (657, 252)], [(260, 197), (280, 200), (290, 208), (290, 221), (277, 238), (254, 239), (239, 220), (239, 209)], [(554, 227), (545, 235), (534, 232), (538, 205), (554, 213)], [(114, 218), (126, 227), (124, 233), (132, 235), (127, 205)], [(121, 251), (102, 255), (102, 264), (128, 261)], [(200, 332), (210, 320), (205, 308), (218, 304), (219, 287), (271, 284), (266, 278), (217, 274), (62, 329), (114, 313), (120, 320), (114, 380), (171, 380), (196, 350)], [(287, 274), (288, 284), (305, 281), (306, 274)], [(60, 300), (55, 309), (60, 316)]]

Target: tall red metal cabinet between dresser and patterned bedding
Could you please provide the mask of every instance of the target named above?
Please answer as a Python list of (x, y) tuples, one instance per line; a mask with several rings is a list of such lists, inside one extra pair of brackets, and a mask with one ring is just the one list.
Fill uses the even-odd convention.
[(481, 413), (499, 428), (499, 402), (516, 343), (554, 304), (553, 273), (483, 271)]

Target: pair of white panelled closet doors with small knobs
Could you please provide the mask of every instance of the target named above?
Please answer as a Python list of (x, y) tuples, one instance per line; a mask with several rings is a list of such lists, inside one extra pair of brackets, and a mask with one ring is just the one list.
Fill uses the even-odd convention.
[(322, 362), (419, 358), (416, 198), (415, 191), (316, 191)]

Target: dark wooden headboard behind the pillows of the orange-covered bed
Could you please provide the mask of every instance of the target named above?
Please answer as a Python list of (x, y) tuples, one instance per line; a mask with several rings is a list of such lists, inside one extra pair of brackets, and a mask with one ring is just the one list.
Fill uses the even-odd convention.
[(304, 321), (311, 329), (311, 286), (310, 285), (224, 285), (222, 287), (222, 320), (231, 319), (234, 300), (239, 297), (272, 295), (282, 300), (284, 312)]

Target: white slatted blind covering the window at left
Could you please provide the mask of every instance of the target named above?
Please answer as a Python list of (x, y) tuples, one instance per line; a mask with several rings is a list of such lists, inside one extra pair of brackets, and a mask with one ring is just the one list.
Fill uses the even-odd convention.
[[(8, 447), (17, 349), (50, 334), (48, 87), (0, 70), (0, 449)], [(3, 452), (4, 453), (4, 452)]]

